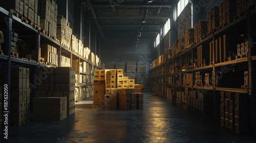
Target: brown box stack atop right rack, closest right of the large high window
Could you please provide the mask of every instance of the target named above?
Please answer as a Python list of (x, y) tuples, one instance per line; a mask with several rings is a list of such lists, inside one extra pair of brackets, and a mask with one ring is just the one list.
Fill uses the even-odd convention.
[(195, 25), (195, 41), (198, 41), (207, 34), (207, 20), (199, 20)]

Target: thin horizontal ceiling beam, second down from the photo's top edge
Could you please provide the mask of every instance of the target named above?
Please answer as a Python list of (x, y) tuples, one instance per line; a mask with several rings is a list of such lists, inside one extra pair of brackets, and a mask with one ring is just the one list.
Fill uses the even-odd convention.
[[(105, 16), (97, 16), (98, 19), (101, 18), (143, 18), (143, 15), (105, 15)], [(170, 15), (147, 15), (146, 18), (156, 18), (156, 19), (165, 19), (170, 18)]]

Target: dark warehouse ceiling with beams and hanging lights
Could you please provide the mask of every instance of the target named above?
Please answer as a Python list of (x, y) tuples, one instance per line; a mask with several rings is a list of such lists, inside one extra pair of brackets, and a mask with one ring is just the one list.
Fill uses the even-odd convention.
[[(160, 25), (170, 17), (173, 5), (173, 0), (153, 0), (151, 3), (148, 0), (84, 1), (102, 35), (141, 32), (141, 36), (155, 36)], [(146, 22), (143, 23), (144, 17)]]

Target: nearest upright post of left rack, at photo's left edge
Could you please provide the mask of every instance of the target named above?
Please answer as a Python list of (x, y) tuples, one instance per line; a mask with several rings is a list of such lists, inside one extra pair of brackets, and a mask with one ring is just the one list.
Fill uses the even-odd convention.
[[(8, 59), (6, 61), (5, 65), (5, 84), (7, 84), (8, 87), (8, 106), (5, 106), (5, 110), (9, 115), (8, 115), (8, 121), (10, 120), (10, 94), (11, 94), (11, 35), (12, 35), (12, 13), (9, 11), (9, 17), (6, 17), (6, 41), (5, 41), (5, 53), (6, 56), (8, 56)], [(7, 109), (6, 109), (7, 108)], [(9, 123), (8, 123), (8, 128), (9, 128)]]

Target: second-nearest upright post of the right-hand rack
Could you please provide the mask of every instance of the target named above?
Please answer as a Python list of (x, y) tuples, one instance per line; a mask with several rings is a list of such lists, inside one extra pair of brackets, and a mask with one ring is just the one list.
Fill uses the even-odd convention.
[(213, 33), (212, 36), (212, 65), (213, 65), (213, 69), (212, 69), (212, 85), (214, 86), (214, 117), (217, 117), (217, 95), (216, 95), (216, 80), (217, 77), (215, 75), (215, 35)]

